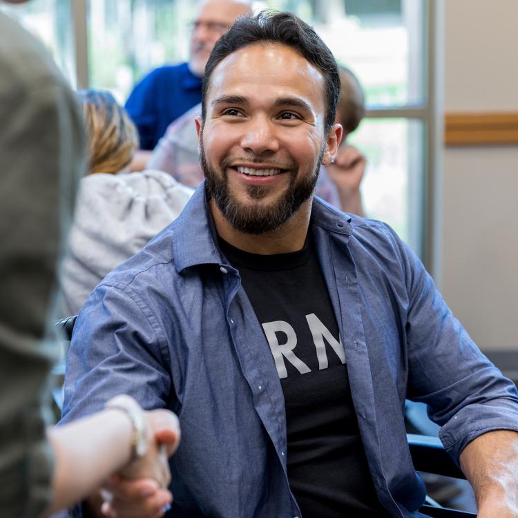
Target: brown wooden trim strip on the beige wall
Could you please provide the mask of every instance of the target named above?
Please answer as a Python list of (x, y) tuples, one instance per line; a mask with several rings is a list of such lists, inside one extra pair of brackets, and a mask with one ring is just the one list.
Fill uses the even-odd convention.
[(518, 144), (518, 112), (447, 113), (446, 146)]

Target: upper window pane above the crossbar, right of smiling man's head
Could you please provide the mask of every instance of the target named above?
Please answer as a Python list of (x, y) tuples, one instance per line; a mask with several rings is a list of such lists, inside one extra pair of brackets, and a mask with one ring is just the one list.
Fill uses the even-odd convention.
[(311, 23), (336, 59), (360, 79), (367, 106), (425, 102), (425, 0), (268, 0)]

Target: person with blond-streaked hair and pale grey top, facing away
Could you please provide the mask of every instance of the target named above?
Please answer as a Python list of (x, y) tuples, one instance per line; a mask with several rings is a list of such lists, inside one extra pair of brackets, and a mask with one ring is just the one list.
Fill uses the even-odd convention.
[(61, 269), (61, 316), (77, 315), (109, 271), (178, 217), (193, 191), (162, 171), (128, 173), (138, 135), (111, 93), (79, 93), (88, 141), (68, 251)]

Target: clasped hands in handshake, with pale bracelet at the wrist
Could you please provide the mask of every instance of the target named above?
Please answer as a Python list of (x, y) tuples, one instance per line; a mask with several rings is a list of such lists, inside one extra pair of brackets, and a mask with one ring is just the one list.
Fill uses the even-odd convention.
[(144, 411), (126, 395), (115, 396), (105, 408), (131, 419), (132, 459), (88, 499), (90, 511), (100, 517), (161, 517), (173, 501), (168, 459), (180, 443), (178, 417), (169, 410)]

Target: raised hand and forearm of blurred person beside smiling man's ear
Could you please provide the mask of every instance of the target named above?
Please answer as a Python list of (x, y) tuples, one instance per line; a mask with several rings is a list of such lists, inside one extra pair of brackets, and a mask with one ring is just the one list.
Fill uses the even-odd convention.
[(363, 216), (360, 184), (367, 160), (354, 146), (343, 145), (332, 164), (326, 166), (327, 174), (338, 189), (342, 210)]

